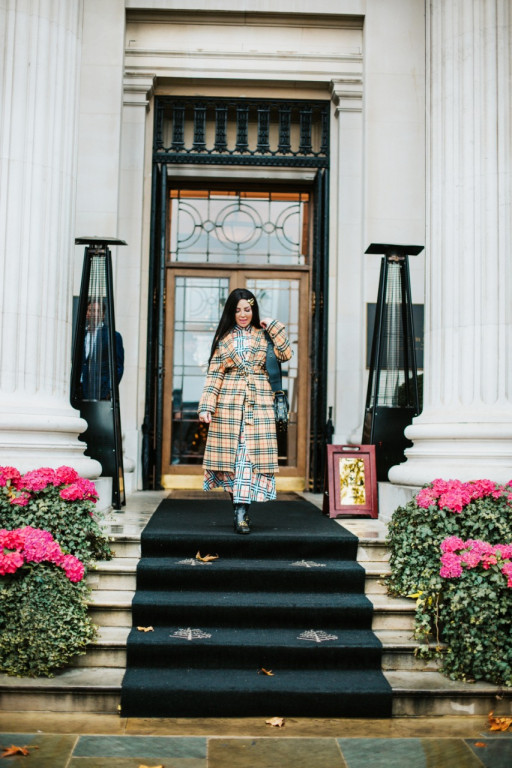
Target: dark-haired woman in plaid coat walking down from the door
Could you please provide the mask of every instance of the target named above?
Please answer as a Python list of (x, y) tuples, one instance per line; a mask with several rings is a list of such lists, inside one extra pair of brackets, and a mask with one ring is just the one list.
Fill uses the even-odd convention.
[(276, 357), (292, 356), (285, 327), (260, 320), (255, 296), (232, 291), (213, 337), (199, 421), (209, 424), (204, 454), (204, 490), (223, 487), (231, 495), (236, 533), (250, 533), (253, 501), (276, 497), (277, 440), (274, 395), (265, 369), (268, 337)]

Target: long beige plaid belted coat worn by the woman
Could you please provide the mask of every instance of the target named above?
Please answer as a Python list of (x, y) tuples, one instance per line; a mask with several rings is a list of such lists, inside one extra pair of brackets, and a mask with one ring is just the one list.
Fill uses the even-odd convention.
[[(277, 320), (268, 324), (276, 357), (292, 356), (285, 327)], [(265, 369), (267, 338), (251, 327), (245, 360), (235, 348), (231, 333), (217, 345), (199, 401), (198, 412), (209, 411), (212, 421), (204, 453), (204, 469), (234, 472), (242, 419), (248, 455), (256, 472), (274, 474), (277, 466), (274, 395)]]

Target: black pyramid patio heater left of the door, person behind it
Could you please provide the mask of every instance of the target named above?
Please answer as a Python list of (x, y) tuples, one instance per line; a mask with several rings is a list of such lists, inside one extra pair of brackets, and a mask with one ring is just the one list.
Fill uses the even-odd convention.
[(99, 461), (102, 476), (112, 478), (112, 506), (126, 504), (123, 472), (119, 379), (124, 352), (116, 333), (110, 246), (126, 245), (113, 237), (78, 237), (85, 245), (82, 283), (73, 339), (71, 405), (87, 422), (79, 439), (86, 456)]

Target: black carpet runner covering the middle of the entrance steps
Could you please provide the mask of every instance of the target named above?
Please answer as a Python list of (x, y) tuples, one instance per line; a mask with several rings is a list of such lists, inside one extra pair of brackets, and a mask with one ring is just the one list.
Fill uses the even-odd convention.
[(357, 538), (301, 498), (251, 519), (236, 535), (224, 499), (166, 499), (152, 516), (122, 716), (389, 717)]

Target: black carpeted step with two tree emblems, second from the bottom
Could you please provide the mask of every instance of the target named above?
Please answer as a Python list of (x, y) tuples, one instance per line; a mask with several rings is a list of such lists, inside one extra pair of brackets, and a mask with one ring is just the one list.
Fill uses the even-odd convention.
[(329, 632), (238, 627), (132, 629), (128, 666), (246, 669), (380, 669), (382, 646), (370, 630)]

